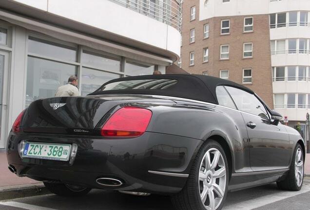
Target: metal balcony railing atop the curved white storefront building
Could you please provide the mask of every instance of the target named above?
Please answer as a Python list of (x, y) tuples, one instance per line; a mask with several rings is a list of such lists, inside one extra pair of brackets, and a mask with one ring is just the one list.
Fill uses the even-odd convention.
[(140, 14), (182, 30), (183, 0), (110, 0)]

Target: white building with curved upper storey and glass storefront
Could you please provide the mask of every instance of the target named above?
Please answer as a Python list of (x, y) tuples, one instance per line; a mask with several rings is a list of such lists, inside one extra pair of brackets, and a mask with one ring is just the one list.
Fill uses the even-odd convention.
[(165, 73), (180, 56), (179, 0), (2, 0), (0, 149), (18, 114), (69, 76), (81, 95), (119, 77)]

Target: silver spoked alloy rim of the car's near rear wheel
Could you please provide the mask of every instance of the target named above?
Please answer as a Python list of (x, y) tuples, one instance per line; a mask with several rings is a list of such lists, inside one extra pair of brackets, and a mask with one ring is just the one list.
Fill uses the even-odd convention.
[(224, 157), (216, 148), (204, 155), (199, 171), (200, 199), (206, 210), (216, 210), (222, 203), (226, 190)]

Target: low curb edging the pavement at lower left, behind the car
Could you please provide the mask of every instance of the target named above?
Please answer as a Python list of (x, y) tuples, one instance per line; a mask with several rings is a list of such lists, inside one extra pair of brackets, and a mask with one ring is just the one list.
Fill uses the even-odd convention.
[(50, 193), (43, 183), (0, 187), (0, 201)]

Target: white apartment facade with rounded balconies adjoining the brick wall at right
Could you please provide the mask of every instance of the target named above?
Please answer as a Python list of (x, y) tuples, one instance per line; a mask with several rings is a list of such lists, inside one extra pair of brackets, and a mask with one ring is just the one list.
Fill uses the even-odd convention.
[[(270, 49), (260, 53), (271, 54), (274, 109), (305, 137), (306, 114), (310, 112), (310, 1), (199, 1), (199, 21), (254, 15), (268, 15), (270, 19)], [(250, 26), (255, 29), (255, 25)]]

